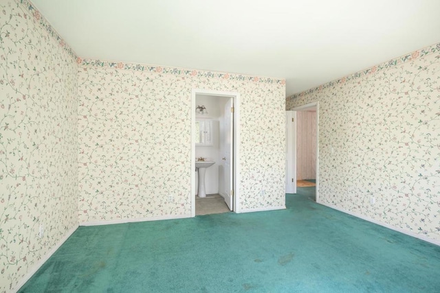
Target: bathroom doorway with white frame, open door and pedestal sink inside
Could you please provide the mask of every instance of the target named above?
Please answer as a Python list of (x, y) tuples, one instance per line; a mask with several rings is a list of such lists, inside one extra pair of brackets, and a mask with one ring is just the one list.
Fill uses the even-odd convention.
[(192, 91), (192, 217), (239, 211), (235, 184), (239, 159), (238, 99), (238, 93)]

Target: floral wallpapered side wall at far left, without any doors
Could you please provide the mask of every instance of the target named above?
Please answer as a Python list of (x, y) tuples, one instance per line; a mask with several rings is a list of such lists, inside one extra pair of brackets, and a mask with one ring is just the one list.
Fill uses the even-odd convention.
[(10, 292), (78, 225), (78, 65), (28, 1), (0, 2), (0, 43), (0, 292)]

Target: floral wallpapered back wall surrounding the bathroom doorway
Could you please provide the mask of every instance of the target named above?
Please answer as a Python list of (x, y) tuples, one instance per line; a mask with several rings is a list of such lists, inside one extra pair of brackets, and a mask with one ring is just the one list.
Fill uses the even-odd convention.
[(78, 63), (80, 222), (190, 215), (192, 89), (241, 95), (241, 209), (285, 205), (284, 82)]

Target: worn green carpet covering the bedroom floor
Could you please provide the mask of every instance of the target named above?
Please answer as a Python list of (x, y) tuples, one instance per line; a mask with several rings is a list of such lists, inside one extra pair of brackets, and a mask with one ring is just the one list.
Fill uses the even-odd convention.
[(20, 292), (440, 292), (440, 247), (287, 194), (287, 209), (80, 226)]

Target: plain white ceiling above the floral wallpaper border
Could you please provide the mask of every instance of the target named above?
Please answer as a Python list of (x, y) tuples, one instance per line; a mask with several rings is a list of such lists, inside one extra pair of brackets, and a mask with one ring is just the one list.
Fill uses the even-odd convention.
[(78, 56), (305, 91), (440, 42), (439, 0), (32, 0)]

